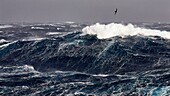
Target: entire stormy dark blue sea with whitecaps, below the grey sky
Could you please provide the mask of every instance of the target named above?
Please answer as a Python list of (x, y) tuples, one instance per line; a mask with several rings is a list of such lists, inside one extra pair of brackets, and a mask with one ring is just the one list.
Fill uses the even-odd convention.
[(170, 23), (0, 24), (1, 96), (170, 96)]

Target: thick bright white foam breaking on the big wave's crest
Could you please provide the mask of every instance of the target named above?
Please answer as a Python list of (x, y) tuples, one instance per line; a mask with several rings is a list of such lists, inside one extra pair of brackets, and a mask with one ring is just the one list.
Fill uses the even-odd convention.
[(165, 39), (170, 39), (170, 32), (140, 28), (132, 24), (123, 25), (117, 23), (110, 23), (105, 25), (96, 23), (95, 25), (83, 28), (82, 31), (85, 34), (97, 35), (97, 38), (99, 39), (106, 39), (115, 36), (126, 37), (135, 35), (160, 36)]

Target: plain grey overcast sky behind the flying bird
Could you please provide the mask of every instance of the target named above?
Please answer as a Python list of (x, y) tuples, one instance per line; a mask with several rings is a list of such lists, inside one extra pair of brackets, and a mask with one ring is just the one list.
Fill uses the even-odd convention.
[(170, 22), (170, 0), (0, 0), (0, 23), (65, 21)]

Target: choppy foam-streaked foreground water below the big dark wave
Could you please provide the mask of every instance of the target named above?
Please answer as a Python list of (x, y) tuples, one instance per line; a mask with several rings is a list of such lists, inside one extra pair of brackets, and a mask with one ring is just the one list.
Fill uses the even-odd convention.
[[(3, 71), (2, 71), (3, 70)], [(32, 66), (3, 67), (0, 95), (160, 95), (168, 94), (169, 69), (135, 75), (93, 75), (56, 71), (41, 73)], [(21, 78), (22, 77), (22, 78)]]

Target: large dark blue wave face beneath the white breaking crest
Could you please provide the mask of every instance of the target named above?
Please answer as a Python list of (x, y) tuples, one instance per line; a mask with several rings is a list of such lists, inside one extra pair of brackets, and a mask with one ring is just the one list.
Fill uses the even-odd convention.
[(79, 32), (53, 39), (19, 40), (0, 48), (1, 66), (32, 65), (42, 72), (142, 73), (170, 68), (169, 57), (168, 39), (129, 36), (100, 40)]

